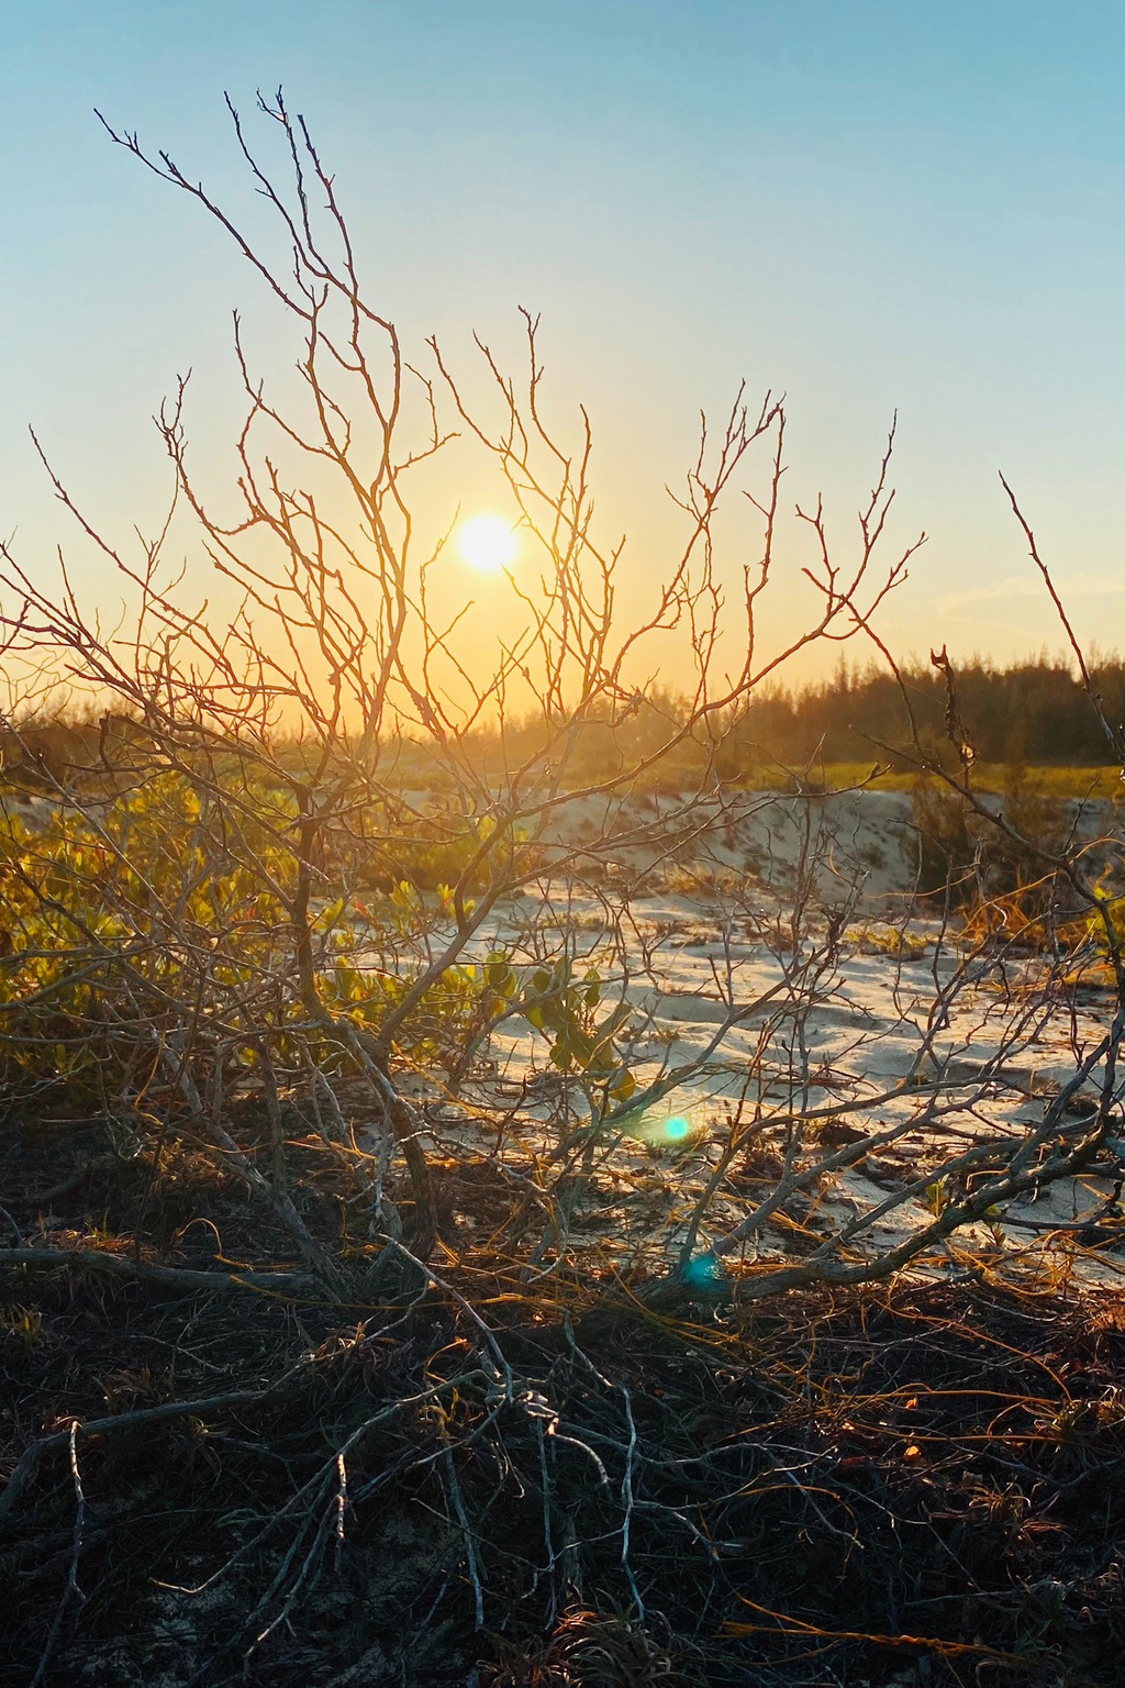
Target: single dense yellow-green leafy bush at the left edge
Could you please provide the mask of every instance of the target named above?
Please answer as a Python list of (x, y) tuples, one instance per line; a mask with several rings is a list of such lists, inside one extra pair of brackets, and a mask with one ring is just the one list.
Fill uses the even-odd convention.
[(191, 1001), (219, 1009), (270, 974), (292, 861), (268, 810), (248, 815), (240, 844), (234, 859), (179, 775), (88, 810), (59, 809), (39, 827), (3, 817), (3, 1082), (98, 1094), (111, 1050), (128, 1043), (137, 1058), (147, 1045), (152, 1057), (169, 1011), (182, 1018)]

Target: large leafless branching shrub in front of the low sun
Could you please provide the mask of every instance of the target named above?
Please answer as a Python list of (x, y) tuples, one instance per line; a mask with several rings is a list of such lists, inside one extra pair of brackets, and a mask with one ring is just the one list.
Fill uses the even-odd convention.
[[(584, 412), (570, 436), (548, 424), (536, 321), (525, 317), (518, 376), (484, 344), (476, 373), (433, 343), (403, 348), (366, 292), (304, 120), (280, 96), (261, 115), (280, 177), (234, 125), (282, 236), (277, 262), (268, 236), (241, 233), (167, 155), (113, 138), (234, 240), (293, 329), (299, 400), (270, 397), (236, 324), (246, 417), (231, 508), (196, 479), (182, 381), (160, 417), (175, 513), (140, 554), (101, 535), (49, 469), (118, 571), (128, 626), (108, 631), (69, 576), (2, 552), (12, 675), (42, 690), (66, 674), (128, 729), (100, 736), (96, 771), (44, 753), (44, 812), (5, 817), (0, 1060), (20, 1117), (49, 1106), (71, 1124), (115, 1123), (103, 1153), (130, 1202), (125, 1246), (62, 1236), (49, 1214), (3, 1215), (0, 1269), (260, 1291), (285, 1310), (287, 1339), (236, 1389), (177, 1389), (113, 1423), (84, 1409), (81, 1426), (27, 1440), (0, 1519), (61, 1457), (81, 1499), (88, 1433), (182, 1418), (182, 1457), (206, 1462), (192, 1425), (282, 1411), (326, 1377), (336, 1408), (300, 1442), (283, 1504), (255, 1512), (250, 1546), (207, 1570), (207, 1587), (240, 1588), (223, 1658), (241, 1669), (297, 1622), (344, 1553), (356, 1484), (371, 1501), (408, 1479), (432, 1511), (440, 1499), (435, 1600), (440, 1575), (454, 1578), (479, 1631), (503, 1599), (489, 1577), (511, 1573), (493, 1536), (498, 1497), (521, 1543), (535, 1504), (541, 1558), (519, 1577), (543, 1593), (553, 1641), (508, 1680), (595, 1680), (599, 1661), (606, 1680), (641, 1680), (666, 1663), (648, 1609), (668, 1531), (712, 1566), (725, 1538), (713, 1548), (697, 1523), (698, 1494), (722, 1518), (761, 1474), (739, 1467), (734, 1489), (692, 1479), (676, 1499), (680, 1465), (710, 1458), (707, 1436), (653, 1453), (636, 1377), (614, 1372), (599, 1330), (632, 1320), (643, 1361), (658, 1337), (681, 1342), (690, 1317), (697, 1332), (735, 1318), (746, 1344), (757, 1303), (907, 1269), (1066, 1281), (1120, 1178), (1120, 903), (1058, 814), (1017, 790), (1004, 807), (977, 793), (943, 653), (955, 758), (916, 722), (896, 755), (929, 782), (918, 800), (951, 863), (923, 888), (972, 879), (983, 913), (953, 918), (950, 895), (924, 960), (906, 930), (914, 906), (899, 935), (892, 923), (877, 944), (850, 942), (867, 869), (840, 810), (799, 775), (784, 798), (724, 783), (719, 728), (818, 641), (884, 648), (877, 613), (916, 549), (887, 554), (891, 446), (847, 559), (820, 505), (798, 511), (816, 609), (784, 652), (762, 653), (784, 410), (771, 395), (747, 407), (739, 390), (719, 429), (703, 425), (666, 567), (622, 623), (622, 545), (595, 522), (590, 424)], [(523, 621), (491, 672), (437, 606), (452, 511), (423, 533), (415, 495), (457, 434), (491, 464), (540, 571), (535, 587), (514, 582)], [(739, 491), (756, 511), (756, 560), (729, 604), (717, 518)], [(174, 560), (169, 535), (179, 545), (184, 532), (231, 613), (209, 611)], [(688, 677), (675, 707), (644, 685), (673, 635)], [(906, 687), (902, 702), (909, 721)], [(629, 722), (643, 731), (617, 731)], [(675, 903), (661, 901), (668, 888)], [(1066, 922), (1052, 913), (1063, 895)], [(1005, 898), (1024, 925), (1044, 923), (1031, 955), (1024, 928), (1000, 918)], [(1095, 962), (1110, 994), (1085, 1011), (1076, 981)], [(857, 994), (864, 967), (885, 969), (879, 1013)], [(216, 1195), (241, 1247), (224, 1252), (219, 1236), (202, 1266), (186, 1256), (196, 1219), (174, 1224), (174, 1205), (164, 1229), (152, 1219), (186, 1166), (236, 1185), (256, 1215), (250, 1225)], [(1076, 1207), (1079, 1178), (1093, 1214)], [(1046, 1214), (1058, 1190), (1073, 1215), (1041, 1219), (1034, 1204)], [(211, 1214), (196, 1217), (219, 1234)], [(1069, 1252), (1029, 1263), (1027, 1231), (1069, 1239)], [(391, 1354), (406, 1325), (417, 1347)], [(17, 1312), (12, 1328), (37, 1340)], [(167, 1340), (177, 1352), (179, 1330)], [(708, 1364), (690, 1359), (698, 1399), (713, 1393)], [(771, 1389), (772, 1420), (783, 1393)], [(722, 1433), (740, 1440), (732, 1423)], [(553, 1462), (572, 1457), (594, 1501), (582, 1489), (568, 1507)], [(794, 1472), (767, 1487), (796, 1487), (805, 1529), (813, 1502)], [(828, 1533), (847, 1529), (842, 1506)], [(246, 1592), (246, 1556), (266, 1541), (268, 1572)], [(616, 1578), (621, 1615), (582, 1604), (584, 1560), (600, 1588)]]

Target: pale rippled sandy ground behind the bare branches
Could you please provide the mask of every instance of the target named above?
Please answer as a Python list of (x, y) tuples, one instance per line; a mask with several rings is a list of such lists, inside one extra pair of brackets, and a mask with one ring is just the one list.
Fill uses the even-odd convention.
[[(631, 1070), (641, 1094), (656, 1087), (648, 1106), (607, 1134), (570, 1215), (575, 1232), (584, 1227), (592, 1242), (634, 1256), (675, 1251), (732, 1121), (751, 1121), (757, 1109), (762, 1123), (708, 1210), (700, 1234), (707, 1242), (767, 1197), (784, 1146), (774, 1124), (781, 1116), (803, 1116), (811, 1144), (823, 1129), (816, 1116), (845, 1109), (826, 1146), (837, 1144), (842, 1126), (859, 1136), (897, 1133), (894, 1141), (789, 1204), (747, 1246), (747, 1258), (791, 1254), (794, 1225), (808, 1252), (877, 1209), (885, 1212), (853, 1246), (882, 1251), (939, 1210), (950, 1193), (943, 1163), (973, 1143), (1012, 1139), (1042, 1123), (1044, 1107), (1105, 1035), (1110, 998), (1085, 989), (1047, 999), (1036, 957), (968, 960), (914, 901), (919, 852), (909, 814), (902, 793), (855, 792), (811, 805), (759, 793), (740, 798), (734, 815), (697, 803), (688, 824), (670, 824), (665, 847), (641, 849), (627, 839), (639, 819), (653, 820), (649, 800), (641, 817), (609, 817), (622, 844), (599, 885), (545, 878), (482, 930), (477, 964), (499, 950), (526, 977), (533, 964), (567, 952), (575, 977), (597, 969), (597, 1014), (616, 1001), (629, 1004)], [(1110, 814), (1108, 805), (1088, 805), (1076, 819), (1093, 836)], [(585, 803), (557, 839), (580, 847), (604, 819), (602, 805)], [(803, 886), (815, 896), (794, 939)], [(828, 917), (840, 922), (842, 939), (835, 960), (820, 966)], [(489, 1133), (471, 1117), (474, 1096), (487, 1107), (519, 1090), (516, 1129), (533, 1155), (548, 1156), (552, 1138), (538, 1123), (558, 1107), (560, 1087), (548, 1041), (511, 1016), (493, 1033), (489, 1053), (493, 1085), (464, 1094), (460, 1124), (457, 1104), (440, 1107), (439, 1138), (479, 1136), (484, 1148)], [(1083, 1099), (1093, 1097), (1100, 1074), (1091, 1070)], [(676, 1075), (680, 1082), (659, 1094)], [(579, 1085), (572, 1106), (582, 1121)], [(1125, 1158), (1125, 1143), (1112, 1139), (1081, 1178), (960, 1232), (945, 1264), (968, 1247), (1004, 1252), (1052, 1280), (1078, 1271), (1091, 1283), (1117, 1283), (1117, 1212), (1106, 1202), (1118, 1148)], [(924, 1187), (907, 1195), (911, 1183)], [(1083, 1231), (1095, 1220), (1103, 1231), (1096, 1237)]]

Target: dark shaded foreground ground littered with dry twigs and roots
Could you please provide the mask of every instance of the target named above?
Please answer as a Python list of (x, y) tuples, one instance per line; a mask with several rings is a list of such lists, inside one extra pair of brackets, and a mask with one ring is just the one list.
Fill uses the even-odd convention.
[[(673, 1322), (452, 1246), (427, 1285), (283, 1160), (366, 1291), (292, 1276), (191, 1141), (0, 1128), (5, 1685), (1122, 1681), (1125, 1301), (963, 1276)], [(506, 1200), (486, 1161), (449, 1193), (481, 1236)]]

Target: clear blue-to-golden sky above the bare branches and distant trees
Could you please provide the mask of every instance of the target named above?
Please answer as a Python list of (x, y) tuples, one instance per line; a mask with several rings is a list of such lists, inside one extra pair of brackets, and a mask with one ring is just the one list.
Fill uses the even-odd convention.
[[(1000, 469), (1083, 641), (1125, 647), (1125, 8), (0, 0), (0, 532), (29, 572), (73, 545), (29, 425), (128, 535), (159, 517), (152, 414), (187, 366), (201, 463), (229, 474), (231, 311), (266, 373), (292, 363), (251, 272), (94, 108), (253, 219), (223, 93), (250, 113), (283, 84), (408, 346), (514, 356), (518, 306), (541, 312), (638, 592), (700, 408), (746, 380), (786, 393), (786, 508), (823, 491), (842, 554), (897, 410), (891, 537), (929, 535), (884, 609), (899, 655), (1059, 648)], [(83, 586), (111, 613), (93, 559)], [(778, 633), (796, 586), (781, 606)]]

